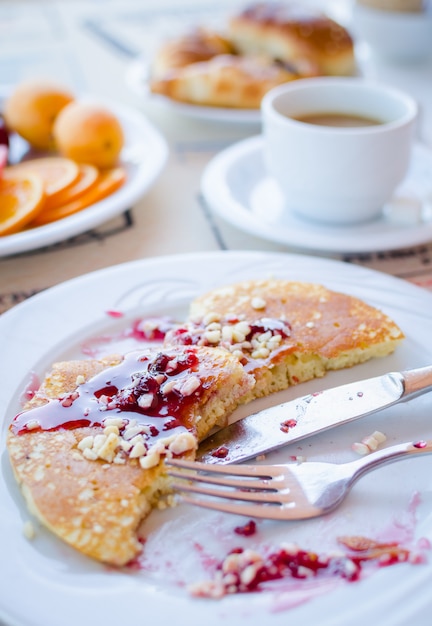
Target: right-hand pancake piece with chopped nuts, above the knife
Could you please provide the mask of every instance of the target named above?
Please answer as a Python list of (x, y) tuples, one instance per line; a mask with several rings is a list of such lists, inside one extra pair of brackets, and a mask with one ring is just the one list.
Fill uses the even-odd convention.
[(191, 303), (167, 345), (205, 345), (236, 355), (256, 380), (243, 399), (267, 396), (328, 370), (390, 354), (404, 338), (388, 316), (322, 285), (285, 280), (220, 287)]

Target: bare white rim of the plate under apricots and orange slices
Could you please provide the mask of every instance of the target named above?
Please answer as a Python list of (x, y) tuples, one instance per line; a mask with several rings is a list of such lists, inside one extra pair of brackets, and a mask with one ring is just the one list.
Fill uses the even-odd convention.
[[(111, 101), (103, 104), (118, 116), (123, 126), (125, 145), (120, 162), (127, 171), (124, 185), (107, 198), (74, 215), (0, 237), (0, 256), (41, 248), (99, 226), (131, 208), (159, 176), (168, 156), (168, 146), (159, 131), (142, 114), (127, 106)], [(22, 140), (13, 136), (11, 150), (19, 152), (21, 144)]]

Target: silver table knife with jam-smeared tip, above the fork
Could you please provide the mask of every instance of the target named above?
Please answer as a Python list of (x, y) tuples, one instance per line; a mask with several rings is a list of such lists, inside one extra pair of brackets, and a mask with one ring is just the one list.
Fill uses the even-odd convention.
[(197, 460), (238, 463), (432, 390), (432, 366), (333, 387), (253, 413), (201, 443)]

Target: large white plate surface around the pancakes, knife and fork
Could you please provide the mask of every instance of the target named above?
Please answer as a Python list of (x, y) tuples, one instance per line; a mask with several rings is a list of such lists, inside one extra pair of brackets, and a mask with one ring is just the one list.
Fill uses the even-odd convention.
[[(382, 308), (403, 328), (397, 352), (326, 378), (291, 388), (245, 412), (343, 382), (432, 362), (432, 294), (399, 279), (336, 261), (258, 252), (216, 252), (160, 257), (119, 265), (49, 289), (0, 317), (2, 355), (0, 406), (4, 408), (0, 469), (0, 621), (7, 626), (77, 626), (100, 623), (180, 623), (189, 626), (385, 626), (429, 624), (432, 562), (380, 568), (356, 583), (297, 582), (265, 592), (199, 600), (187, 582), (206, 578), (206, 567), (238, 545), (300, 547), (325, 552), (338, 535), (361, 534), (410, 544), (432, 540), (432, 458), (408, 459), (364, 477), (337, 512), (316, 520), (258, 523), (258, 533), (240, 537), (246, 518), (204, 512), (186, 505), (151, 514), (141, 569), (116, 571), (82, 557), (36, 526), (12, 476), (5, 434), (19, 411), (23, 389), (56, 359), (82, 356), (83, 345), (111, 351), (94, 341), (119, 333), (138, 316), (169, 313), (183, 318), (190, 299), (216, 285), (244, 278), (282, 277), (321, 282)], [(123, 312), (122, 318), (109, 315)], [(238, 415), (237, 415), (238, 417)], [(305, 455), (308, 460), (355, 457), (351, 443), (378, 429), (387, 443), (432, 438), (430, 398), (422, 396), (338, 429), (289, 446), (269, 461)], [(431, 557), (432, 558), (432, 557)]]

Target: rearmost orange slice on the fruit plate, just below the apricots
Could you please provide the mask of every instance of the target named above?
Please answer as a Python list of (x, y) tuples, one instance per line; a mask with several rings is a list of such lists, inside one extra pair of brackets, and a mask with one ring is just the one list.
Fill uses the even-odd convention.
[(79, 176), (79, 167), (75, 161), (55, 156), (22, 161), (10, 165), (7, 170), (13, 175), (27, 172), (38, 174), (44, 182), (46, 197), (51, 199), (72, 185)]

